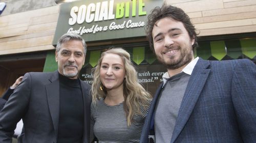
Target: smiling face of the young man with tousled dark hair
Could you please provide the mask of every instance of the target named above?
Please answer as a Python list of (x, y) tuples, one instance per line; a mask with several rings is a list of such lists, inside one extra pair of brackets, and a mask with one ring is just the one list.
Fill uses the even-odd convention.
[(182, 22), (162, 18), (155, 23), (152, 36), (157, 59), (167, 69), (185, 67), (194, 59), (195, 39), (190, 39)]

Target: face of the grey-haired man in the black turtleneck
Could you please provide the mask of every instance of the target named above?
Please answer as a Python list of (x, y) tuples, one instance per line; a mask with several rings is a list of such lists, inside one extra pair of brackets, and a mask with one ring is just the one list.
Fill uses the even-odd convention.
[(78, 77), (85, 58), (82, 42), (78, 40), (63, 43), (60, 50), (55, 52), (59, 73), (72, 79)]

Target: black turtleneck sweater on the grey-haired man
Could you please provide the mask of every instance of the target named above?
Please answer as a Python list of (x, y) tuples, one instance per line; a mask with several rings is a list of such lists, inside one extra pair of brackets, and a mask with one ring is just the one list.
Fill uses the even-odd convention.
[(82, 142), (83, 114), (79, 79), (70, 79), (59, 74), (58, 143)]

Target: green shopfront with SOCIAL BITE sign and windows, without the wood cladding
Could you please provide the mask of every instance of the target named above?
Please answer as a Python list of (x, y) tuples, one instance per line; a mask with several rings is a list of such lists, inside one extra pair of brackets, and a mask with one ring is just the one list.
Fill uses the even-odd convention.
[[(154, 52), (150, 49), (144, 27), (148, 13), (154, 7), (161, 6), (162, 2), (161, 0), (118, 0), (62, 4), (53, 45), (56, 45), (57, 39), (62, 34), (70, 32), (80, 34), (89, 43), (86, 63), (79, 77), (90, 84), (93, 81), (92, 69), (97, 65), (101, 52), (112, 46), (122, 47), (131, 54), (131, 60), (138, 71), (139, 82), (154, 94), (166, 68), (157, 61)], [(131, 39), (141, 40), (131, 42), (133, 41)], [(199, 37), (199, 47), (195, 49), (194, 56), (205, 60), (246, 58), (255, 62), (256, 36), (249, 33)], [(48, 51), (44, 72), (56, 69), (55, 51)]]

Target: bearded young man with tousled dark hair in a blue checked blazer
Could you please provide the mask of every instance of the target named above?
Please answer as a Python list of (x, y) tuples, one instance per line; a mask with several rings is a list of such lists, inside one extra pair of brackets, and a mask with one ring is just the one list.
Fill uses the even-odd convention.
[(164, 4), (148, 16), (147, 37), (167, 68), (140, 142), (255, 142), (256, 66), (247, 59), (194, 59), (194, 25)]

